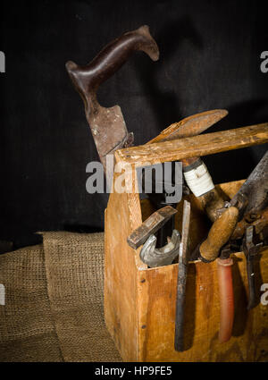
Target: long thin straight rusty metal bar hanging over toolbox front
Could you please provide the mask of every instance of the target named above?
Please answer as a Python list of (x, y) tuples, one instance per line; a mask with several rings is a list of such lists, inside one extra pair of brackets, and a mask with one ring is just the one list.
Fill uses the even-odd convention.
[(176, 317), (175, 317), (175, 337), (174, 348), (177, 351), (184, 350), (183, 325), (184, 325), (184, 304), (185, 290), (188, 267), (188, 245), (189, 245), (189, 223), (190, 223), (190, 203), (184, 200), (181, 241), (179, 249), (179, 267), (177, 280), (177, 299), (176, 299)]

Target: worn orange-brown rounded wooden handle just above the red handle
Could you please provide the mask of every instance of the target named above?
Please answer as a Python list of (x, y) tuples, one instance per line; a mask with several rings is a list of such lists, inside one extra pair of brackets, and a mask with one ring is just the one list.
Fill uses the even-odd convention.
[(207, 239), (203, 241), (199, 249), (202, 259), (209, 262), (218, 257), (219, 250), (229, 241), (238, 218), (238, 208), (230, 207), (214, 222)]

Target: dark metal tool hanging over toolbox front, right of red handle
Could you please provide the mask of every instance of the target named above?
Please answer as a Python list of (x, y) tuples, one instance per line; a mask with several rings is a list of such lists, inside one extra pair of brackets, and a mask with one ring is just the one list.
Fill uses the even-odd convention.
[(247, 227), (245, 237), (243, 239), (242, 248), (247, 258), (247, 283), (248, 283), (248, 302), (247, 310), (255, 308), (258, 303), (255, 291), (255, 257), (259, 253), (264, 242), (259, 241), (255, 234), (255, 226)]

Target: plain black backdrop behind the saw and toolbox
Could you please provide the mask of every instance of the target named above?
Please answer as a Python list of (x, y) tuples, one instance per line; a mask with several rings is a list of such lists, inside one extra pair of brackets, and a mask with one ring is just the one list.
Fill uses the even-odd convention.
[[(227, 108), (212, 131), (268, 121), (268, 50), (263, 2), (36, 1), (1, 3), (0, 240), (15, 248), (33, 232), (101, 231), (107, 196), (89, 195), (86, 165), (97, 160), (82, 101), (64, 63), (88, 63), (106, 43), (142, 24), (160, 48), (137, 53), (99, 90), (119, 104), (136, 144), (170, 123)], [(205, 157), (214, 182), (247, 177), (267, 146)]]

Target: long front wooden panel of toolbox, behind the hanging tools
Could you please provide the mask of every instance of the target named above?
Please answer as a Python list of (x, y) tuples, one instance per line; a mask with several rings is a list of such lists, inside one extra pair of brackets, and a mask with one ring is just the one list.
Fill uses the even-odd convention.
[[(247, 269), (243, 253), (233, 255), (235, 320), (229, 342), (220, 343), (220, 302), (217, 264), (188, 265), (185, 306), (185, 351), (174, 350), (178, 265), (140, 271), (146, 281), (140, 291), (140, 361), (267, 361), (268, 306), (247, 311)], [(257, 290), (268, 283), (268, 249), (260, 260)], [(140, 282), (139, 282), (140, 283)], [(267, 298), (267, 297), (266, 297)]]

